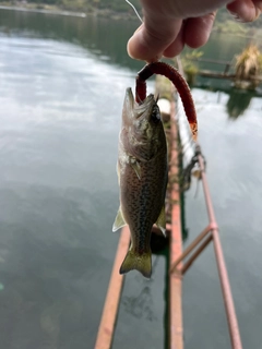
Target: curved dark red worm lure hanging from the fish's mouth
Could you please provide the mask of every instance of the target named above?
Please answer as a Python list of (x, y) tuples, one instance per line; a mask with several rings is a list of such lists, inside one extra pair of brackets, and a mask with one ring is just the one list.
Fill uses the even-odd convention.
[(135, 86), (135, 100), (141, 103), (146, 97), (146, 83), (145, 81), (150, 79), (153, 74), (164, 75), (169, 79), (174, 86), (177, 88), (182, 104), (183, 109), (188, 118), (188, 122), (192, 132), (193, 140), (196, 141), (198, 137), (198, 120), (196, 112), (194, 108), (193, 98), (190, 88), (186, 80), (180, 75), (180, 73), (171, 65), (164, 62), (154, 62), (146, 64), (136, 76)]

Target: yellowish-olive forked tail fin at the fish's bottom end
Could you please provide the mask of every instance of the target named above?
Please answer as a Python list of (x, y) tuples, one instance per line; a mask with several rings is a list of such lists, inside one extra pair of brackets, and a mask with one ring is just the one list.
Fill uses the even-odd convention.
[(126, 255), (119, 273), (126, 274), (130, 270), (136, 269), (144, 277), (150, 278), (152, 274), (151, 251), (143, 254), (135, 253), (132, 249)]

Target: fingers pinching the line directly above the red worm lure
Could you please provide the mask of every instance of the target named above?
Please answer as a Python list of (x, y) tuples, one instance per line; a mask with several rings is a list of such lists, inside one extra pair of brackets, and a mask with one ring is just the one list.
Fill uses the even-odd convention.
[[(198, 2), (195, 9), (191, 0), (177, 1), (175, 8), (174, 1), (170, 0), (141, 1), (144, 23), (130, 38), (128, 53), (134, 59), (153, 62), (162, 58), (163, 55), (165, 57), (175, 57), (183, 49), (184, 44), (193, 48), (204, 45), (210, 37), (215, 14), (212, 12), (202, 15), (203, 9), (214, 9), (216, 4), (223, 4), (229, 0), (215, 0), (212, 2), (202, 0)], [(200, 4), (202, 4), (203, 9), (200, 9)], [(182, 16), (178, 15), (182, 13), (182, 9), (188, 9), (188, 14), (190, 11), (193, 14), (201, 14), (183, 22)], [(183, 23), (184, 25), (182, 25)]]

